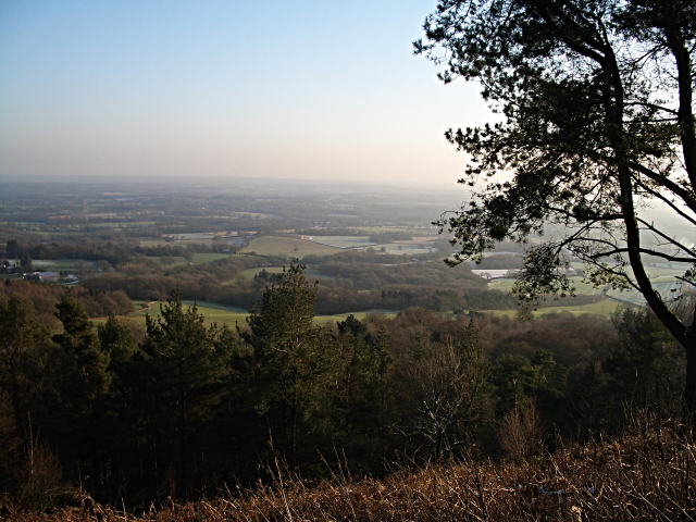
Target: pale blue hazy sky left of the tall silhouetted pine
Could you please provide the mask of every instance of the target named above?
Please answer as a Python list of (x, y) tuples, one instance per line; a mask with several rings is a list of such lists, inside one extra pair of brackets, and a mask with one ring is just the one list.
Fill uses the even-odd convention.
[(412, 54), (435, 1), (0, 2), (0, 175), (451, 184), (490, 115)]

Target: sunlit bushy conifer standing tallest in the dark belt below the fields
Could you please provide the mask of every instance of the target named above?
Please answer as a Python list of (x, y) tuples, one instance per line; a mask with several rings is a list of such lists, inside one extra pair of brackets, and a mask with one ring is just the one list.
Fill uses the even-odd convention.
[(328, 419), (335, 355), (330, 336), (312, 322), (316, 284), (310, 285), (303, 271), (296, 262), (283, 268), (250, 310), (251, 333), (246, 335), (260, 364), (258, 411), (275, 430), (274, 444), (286, 451), (293, 471), (298, 469), (300, 437), (306, 446), (307, 437)]

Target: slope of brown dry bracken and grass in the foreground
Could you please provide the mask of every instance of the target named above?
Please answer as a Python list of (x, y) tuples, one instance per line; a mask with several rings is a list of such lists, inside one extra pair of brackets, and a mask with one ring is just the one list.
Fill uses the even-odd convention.
[(562, 447), (519, 465), (463, 461), (384, 480), (309, 483), (282, 473), (269, 486), (216, 499), (170, 504), (141, 518), (95, 504), (27, 521), (572, 521), (696, 518), (695, 446), (664, 430), (618, 442)]

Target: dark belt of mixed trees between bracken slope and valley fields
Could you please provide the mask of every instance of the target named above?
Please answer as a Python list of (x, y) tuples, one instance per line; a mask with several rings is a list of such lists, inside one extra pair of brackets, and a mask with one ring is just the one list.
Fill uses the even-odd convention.
[[(649, 312), (624, 311), (613, 323), (570, 314), (520, 322), (410, 308), (393, 320), (348, 315), (320, 326), (318, 286), (303, 270), (268, 274), (248, 325), (235, 330), (207, 326), (175, 289), (158, 318), (147, 316), (139, 343), (114, 318), (94, 327), (71, 289), (55, 307), (62, 328), (53, 336), (20, 297), (2, 298), (10, 321), (0, 328), (0, 481), (17, 499), (11, 509), (70, 502), (76, 486), (122, 509), (166, 498), (173, 509), (176, 499), (259, 480), (261, 489), (229, 501), (273, 506), (281, 483), (314, 495), (278, 473), (330, 481), (316, 492), (331, 496), (332, 473), (394, 484), (356, 483), (366, 490), (397, 487), (399, 478), (386, 478), (395, 459), (410, 462), (403, 473), (462, 461), (462, 473), (477, 469), (493, 480), (496, 467), (502, 476), (514, 470), (502, 462), (533, 463), (549, 451), (566, 459), (558, 437), (587, 456), (583, 445), (596, 444), (595, 434), (620, 439), (620, 405), (650, 411), (655, 428), (678, 418), (683, 351)], [(629, 439), (621, 444), (631, 448)], [(419, 484), (428, 470), (401, 480)], [(569, 480), (554, 476), (548, 485)], [(377, 513), (385, 509), (378, 498), (369, 500)]]

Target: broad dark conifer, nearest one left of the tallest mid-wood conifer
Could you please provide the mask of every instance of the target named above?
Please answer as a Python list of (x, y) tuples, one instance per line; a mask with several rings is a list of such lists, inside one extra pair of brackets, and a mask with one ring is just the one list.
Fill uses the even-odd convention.
[(224, 340), (228, 334), (216, 324), (207, 328), (195, 304), (185, 309), (178, 288), (161, 306), (160, 318), (146, 316), (141, 348), (150, 359), (142, 386), (150, 396), (145, 405), (150, 444), (161, 451), (162, 460), (171, 459), (170, 472), (178, 472), (187, 482), (192, 482), (189, 462), (203, 457), (202, 427), (224, 394), (232, 349)]

